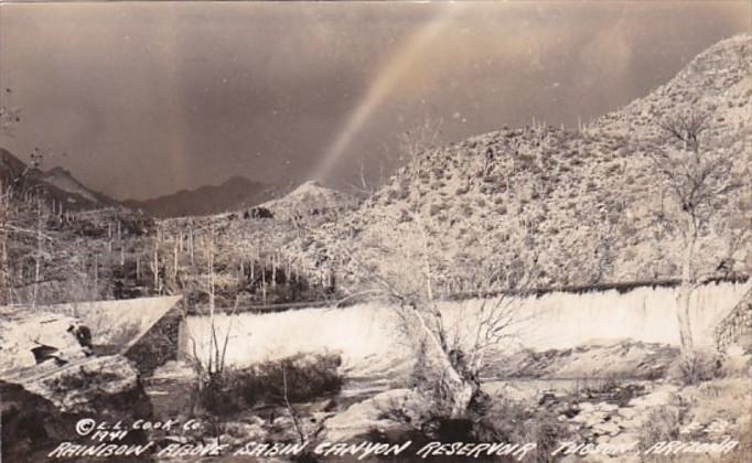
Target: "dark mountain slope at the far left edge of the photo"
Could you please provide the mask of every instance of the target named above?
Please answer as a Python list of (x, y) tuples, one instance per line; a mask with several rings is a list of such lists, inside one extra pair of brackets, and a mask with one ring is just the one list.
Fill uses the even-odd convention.
[(63, 204), (64, 208), (79, 211), (116, 205), (106, 195), (84, 186), (63, 168), (50, 171), (26, 165), (10, 151), (0, 148), (0, 181), (18, 192), (34, 192), (49, 201)]

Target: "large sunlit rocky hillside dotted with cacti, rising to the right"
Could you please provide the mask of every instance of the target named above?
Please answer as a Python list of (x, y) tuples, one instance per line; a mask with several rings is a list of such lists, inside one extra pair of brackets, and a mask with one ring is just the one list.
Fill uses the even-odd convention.
[[(368, 280), (363, 262), (384, 260), (380, 243), (404, 246), (420, 222), (437, 257), (438, 287), (469, 289), (469, 276), (534, 263), (539, 287), (676, 278), (681, 230), (663, 220), (676, 208), (652, 155), (676, 142), (660, 120), (707, 111), (703, 149), (752, 165), (752, 36), (724, 40), (649, 95), (579, 129), (503, 128), (420, 153), (356, 209), (290, 240), (286, 250), (320, 262), (322, 249), (346, 286)], [(749, 182), (748, 182), (749, 183)], [(716, 198), (724, 218), (752, 220), (750, 187)], [(744, 218), (746, 217), (746, 218)], [(752, 246), (729, 251), (722, 224), (702, 230), (696, 260), (712, 274), (731, 258), (752, 269)], [(420, 239), (416, 240), (420, 243)], [(388, 270), (388, 269), (387, 269)]]

